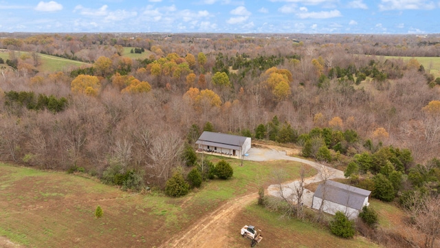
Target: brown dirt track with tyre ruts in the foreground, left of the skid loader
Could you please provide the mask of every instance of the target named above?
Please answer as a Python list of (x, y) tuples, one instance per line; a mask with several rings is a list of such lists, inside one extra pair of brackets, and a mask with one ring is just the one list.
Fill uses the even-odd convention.
[[(258, 197), (257, 193), (248, 194), (230, 200), (211, 214), (197, 221), (184, 234), (173, 237), (159, 248), (164, 247), (197, 247), (223, 248), (228, 246), (228, 226), (243, 207), (252, 203)], [(237, 235), (239, 230), (236, 231)]]

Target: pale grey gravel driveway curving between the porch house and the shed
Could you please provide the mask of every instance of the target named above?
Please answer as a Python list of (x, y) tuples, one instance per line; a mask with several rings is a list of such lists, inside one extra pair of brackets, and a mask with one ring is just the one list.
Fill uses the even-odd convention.
[[(311, 178), (307, 178), (307, 180), (305, 180), (305, 184), (320, 182), (325, 177), (327, 177), (327, 179), (344, 178), (344, 172), (342, 172), (339, 169), (334, 169), (325, 165), (321, 165), (320, 163), (308, 161), (303, 158), (295, 158), (292, 156), (287, 156), (286, 152), (272, 148), (252, 147), (248, 151), (248, 156), (245, 157), (245, 160), (248, 161), (288, 160), (288, 161), (305, 163), (318, 170), (318, 174), (312, 176)], [(294, 194), (294, 191), (296, 187), (298, 187), (298, 185), (299, 185), (298, 180), (294, 180), (293, 182), (281, 185), (281, 187), (283, 188), (283, 196), (285, 196), (286, 198), (292, 201), (296, 201), (296, 196)], [(267, 192), (269, 192), (271, 196), (280, 197), (281, 194), (280, 185), (270, 185), (267, 188)], [(309, 191), (309, 189), (304, 189), (303, 200), (302, 200), (304, 205), (311, 207), (313, 196), (314, 196), (314, 192)]]

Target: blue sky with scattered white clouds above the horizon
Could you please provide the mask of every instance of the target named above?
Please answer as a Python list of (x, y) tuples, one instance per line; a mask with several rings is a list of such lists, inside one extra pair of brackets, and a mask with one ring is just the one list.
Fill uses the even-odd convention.
[(0, 0), (0, 32), (428, 34), (440, 0)]

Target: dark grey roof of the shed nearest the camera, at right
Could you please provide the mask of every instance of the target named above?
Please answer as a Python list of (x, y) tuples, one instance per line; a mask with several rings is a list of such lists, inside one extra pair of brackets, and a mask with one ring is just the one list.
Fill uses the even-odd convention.
[[(324, 194), (325, 193), (325, 194)], [(333, 203), (338, 203), (353, 209), (362, 209), (362, 205), (366, 197), (370, 196), (371, 191), (360, 189), (343, 183), (338, 183), (332, 180), (327, 180), (316, 189), (314, 196), (318, 198), (325, 198)]]

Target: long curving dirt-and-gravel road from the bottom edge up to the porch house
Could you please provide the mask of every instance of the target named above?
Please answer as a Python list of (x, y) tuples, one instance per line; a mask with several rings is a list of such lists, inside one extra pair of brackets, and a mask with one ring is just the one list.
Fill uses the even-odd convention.
[[(318, 172), (323, 172), (322, 174), (330, 175), (329, 178), (339, 178), (344, 176), (344, 172), (326, 167), (325, 165), (320, 165), (312, 161), (307, 161), (302, 158), (294, 158), (287, 156), (285, 151), (280, 151), (273, 148), (252, 148), (248, 152), (249, 156), (245, 160), (249, 161), (271, 161), (271, 160), (289, 160), (297, 161), (300, 163), (305, 163), (316, 168)], [(307, 183), (318, 181), (320, 173), (317, 176), (307, 179)], [(293, 181), (289, 183), (289, 186)], [(284, 186), (284, 185), (283, 185)], [(274, 192), (276, 185), (270, 185), (268, 188), (269, 194), (272, 196), (277, 196)], [(278, 186), (279, 189), (279, 186)], [(289, 187), (286, 187), (289, 189)], [(285, 190), (285, 189), (283, 189)], [(279, 193), (278, 193), (279, 194)], [(285, 192), (287, 194), (287, 192)], [(236, 232), (239, 235), (239, 230), (228, 230), (230, 221), (234, 219), (237, 213), (241, 211), (246, 205), (252, 203), (253, 200), (258, 198), (257, 193), (248, 194), (241, 196), (239, 198), (234, 198), (228, 203), (221, 205), (211, 214), (197, 221), (192, 227), (184, 232), (184, 234), (178, 234), (170, 238), (164, 244), (159, 246), (159, 248), (166, 247), (198, 247), (198, 248), (226, 248), (228, 245), (228, 235), (232, 232)]]

